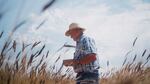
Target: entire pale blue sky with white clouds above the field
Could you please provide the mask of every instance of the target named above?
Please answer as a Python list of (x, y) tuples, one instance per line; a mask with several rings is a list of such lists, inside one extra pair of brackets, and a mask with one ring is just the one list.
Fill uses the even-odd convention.
[[(79, 23), (86, 29), (85, 34), (95, 39), (103, 70), (107, 68), (107, 61), (110, 68), (121, 67), (129, 51), (132, 51), (127, 56), (129, 62), (135, 54), (137, 62), (145, 62), (150, 54), (150, 0), (56, 0), (41, 12), (47, 2), (49, 0), (0, 0), (0, 12), (6, 12), (0, 20), (0, 31), (9, 33), (19, 22), (27, 20), (13, 38), (26, 43), (42, 41), (54, 55), (64, 43), (75, 45), (64, 33), (70, 23)], [(141, 58), (145, 49), (145, 57)], [(70, 49), (60, 60), (71, 59), (73, 52), (74, 49)], [(56, 58), (49, 56), (46, 60), (51, 63)]]

